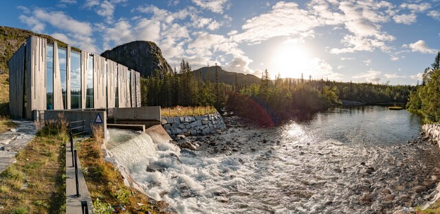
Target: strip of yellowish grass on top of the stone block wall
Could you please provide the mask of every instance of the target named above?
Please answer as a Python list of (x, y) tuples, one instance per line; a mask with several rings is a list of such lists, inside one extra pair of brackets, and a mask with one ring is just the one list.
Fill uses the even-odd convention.
[(215, 114), (217, 109), (212, 106), (195, 106), (183, 107), (175, 106), (173, 108), (162, 108), (162, 116), (164, 117), (178, 117), (178, 116), (200, 116)]

